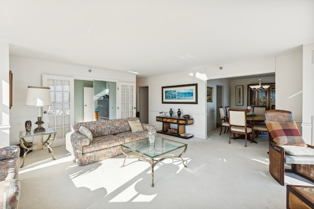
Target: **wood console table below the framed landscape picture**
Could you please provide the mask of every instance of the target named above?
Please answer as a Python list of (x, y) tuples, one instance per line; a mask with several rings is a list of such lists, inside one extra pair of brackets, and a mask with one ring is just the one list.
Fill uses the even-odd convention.
[[(193, 137), (192, 134), (185, 133), (185, 126), (193, 124), (193, 118), (184, 119), (182, 117), (157, 116), (157, 121), (162, 122), (162, 130), (157, 131), (171, 136), (177, 136), (184, 139)], [(177, 124), (176, 129), (172, 129), (170, 124)]]

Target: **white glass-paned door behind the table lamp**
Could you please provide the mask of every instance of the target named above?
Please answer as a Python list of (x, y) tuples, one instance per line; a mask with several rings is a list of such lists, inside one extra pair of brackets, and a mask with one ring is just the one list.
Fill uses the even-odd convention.
[[(65, 144), (65, 135), (71, 131), (74, 123), (74, 79), (43, 75), (43, 86), (50, 87), (52, 106), (44, 109), (46, 126), (57, 132), (54, 146)], [(46, 122), (46, 123), (47, 123)]]

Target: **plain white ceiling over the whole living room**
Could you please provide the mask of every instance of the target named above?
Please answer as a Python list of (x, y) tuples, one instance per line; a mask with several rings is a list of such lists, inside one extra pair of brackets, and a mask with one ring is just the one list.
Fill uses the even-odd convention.
[(139, 77), (314, 42), (314, 0), (0, 0), (10, 54)]

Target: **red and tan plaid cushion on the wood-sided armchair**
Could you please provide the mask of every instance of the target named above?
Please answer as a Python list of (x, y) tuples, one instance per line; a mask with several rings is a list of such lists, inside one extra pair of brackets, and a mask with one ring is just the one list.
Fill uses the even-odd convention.
[(278, 145), (295, 145), (307, 147), (294, 121), (273, 122), (265, 121), (267, 130), (273, 141)]

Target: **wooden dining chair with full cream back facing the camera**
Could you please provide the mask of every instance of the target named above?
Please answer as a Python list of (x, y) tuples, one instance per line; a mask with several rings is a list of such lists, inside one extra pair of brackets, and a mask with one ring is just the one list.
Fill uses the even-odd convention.
[(253, 132), (246, 124), (246, 111), (240, 109), (229, 109), (229, 144), (231, 143), (231, 133), (245, 136), (244, 146), (247, 144), (247, 135), (250, 134), (250, 141), (253, 140)]

